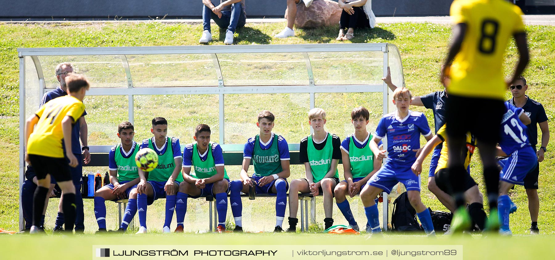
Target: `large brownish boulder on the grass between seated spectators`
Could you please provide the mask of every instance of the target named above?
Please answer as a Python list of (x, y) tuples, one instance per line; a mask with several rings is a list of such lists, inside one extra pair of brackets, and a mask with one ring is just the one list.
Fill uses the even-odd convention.
[[(299, 1), (297, 4), (295, 27), (316, 28), (327, 25), (339, 25), (341, 10), (337, 2), (331, 0), (314, 0), (310, 7), (306, 7), (302, 1)], [(287, 18), (287, 11), (285, 11), (285, 18)]]

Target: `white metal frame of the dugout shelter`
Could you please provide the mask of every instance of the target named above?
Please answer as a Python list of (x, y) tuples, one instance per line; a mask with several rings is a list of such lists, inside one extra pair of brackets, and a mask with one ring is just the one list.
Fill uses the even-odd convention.
[[(44, 78), (43, 66), (41, 61), (49, 56), (117, 56), (119, 57), (125, 73), (125, 85), (119, 84), (102, 85), (94, 84), (88, 91), (87, 95), (127, 95), (128, 96), (128, 121), (133, 123), (134, 95), (184, 95), (184, 94), (218, 94), (219, 95), (219, 143), (225, 153), (238, 153), (243, 151), (243, 144), (225, 144), (224, 142), (224, 97), (226, 94), (253, 94), (253, 93), (309, 93), (310, 94), (310, 108), (315, 107), (315, 93), (356, 93), (356, 92), (381, 92), (383, 93), (382, 106), (383, 114), (385, 115), (390, 111), (389, 108), (389, 95), (387, 85), (381, 81), (381, 76), (386, 76), (387, 67), (391, 66), (391, 74), (393, 82), (398, 86), (404, 86), (405, 81), (402, 72), (402, 63), (400, 52), (396, 45), (389, 43), (359, 43), (359, 44), (290, 44), (290, 45), (201, 45), (201, 46), (139, 46), (139, 47), (85, 47), (85, 48), (18, 48), (19, 57), (19, 132), (24, 132), (24, 125), (27, 116), (31, 115), (39, 105), (40, 98), (43, 93), (53, 90), (54, 88), (47, 87)], [(381, 63), (381, 75), (374, 81), (363, 82), (362, 84), (318, 84), (318, 74), (314, 73), (315, 60), (311, 56), (321, 53), (334, 53), (343, 54), (351, 53), (355, 56), (357, 54), (364, 54), (373, 52), (376, 56), (371, 58), (375, 64)], [(221, 56), (226, 54), (295, 54), (297, 57), (302, 57), (299, 67), (306, 70), (306, 78), (301, 80), (301, 84), (266, 84), (266, 85), (253, 85), (252, 82), (244, 84), (235, 82), (234, 84), (226, 85), (226, 71), (220, 66)], [(379, 54), (381, 53), (381, 54)], [(137, 86), (137, 82), (133, 81), (133, 70), (129, 65), (128, 57), (130, 55), (206, 55), (211, 59), (211, 66), (215, 70), (216, 79), (213, 79), (213, 84), (201, 85), (153, 85), (153, 86)], [(298, 54), (298, 55), (297, 55)], [(366, 59), (359, 57), (355, 59)], [(64, 60), (60, 59), (59, 62)], [(276, 61), (287, 62), (287, 61)], [(118, 62), (119, 63), (119, 62)], [(33, 69), (34, 67), (34, 69)], [(87, 72), (83, 73), (87, 76)], [(123, 76), (123, 75), (122, 75)], [(315, 77), (316, 76), (316, 77)], [(298, 81), (297, 81), (298, 82)], [(324, 81), (322, 81), (324, 82)], [(275, 83), (275, 82), (272, 82)], [(100, 87), (97, 86), (101, 85)], [(312, 129), (311, 129), (312, 131)], [(386, 145), (387, 140), (384, 139)], [(19, 143), (24, 143), (24, 135), (19, 135)], [(109, 153), (112, 145), (90, 145), (90, 153), (105, 154)], [(299, 150), (299, 144), (290, 144), (290, 150)], [(25, 162), (24, 153), (26, 147), (19, 145), (19, 188), (25, 180)], [(181, 147), (183, 149), (183, 145)], [(240, 163), (239, 163), (240, 164)], [(87, 165), (94, 166), (94, 165)], [(99, 165), (96, 165), (99, 166)], [(105, 166), (105, 165), (103, 165)], [(384, 201), (387, 201), (387, 194), (384, 195)], [(308, 228), (308, 205), (307, 201), (311, 201), (311, 222), (315, 222), (315, 200), (314, 197), (300, 197), (301, 200), (301, 230), (306, 231)], [(212, 203), (210, 201), (210, 230), (212, 229), (211, 216)], [(305, 202), (305, 203), (302, 203)], [(305, 204), (305, 205), (303, 205)], [(306, 212), (302, 212), (306, 211)], [(385, 227), (382, 230), (387, 230), (388, 223), (388, 210), (387, 203), (383, 203), (383, 217), (382, 225)], [(302, 216), (304, 215), (304, 216)], [(302, 223), (302, 219), (306, 219)], [(216, 221), (216, 220), (215, 220)], [(23, 228), (23, 214), (21, 201), (19, 205), (19, 227)]]

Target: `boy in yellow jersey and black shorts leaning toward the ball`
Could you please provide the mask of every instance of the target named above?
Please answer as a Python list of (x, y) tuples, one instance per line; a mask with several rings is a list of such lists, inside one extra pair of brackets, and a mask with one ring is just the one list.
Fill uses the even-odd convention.
[[(38, 233), (38, 223), (50, 186), (51, 175), (64, 193), (62, 209), (65, 213), (65, 229), (73, 233), (75, 221), (75, 186), (69, 167), (79, 162), (72, 152), (72, 127), (85, 111), (83, 98), (89, 90), (89, 81), (82, 75), (68, 75), (65, 78), (68, 95), (59, 97), (42, 106), (27, 119), (27, 154), (25, 160), (37, 173), (38, 187), (33, 197), (33, 226), (29, 233)], [(34, 129), (34, 126), (37, 127)], [(62, 148), (62, 143), (65, 145)], [(69, 159), (69, 164), (65, 157)], [(80, 159), (80, 158), (79, 158)]]

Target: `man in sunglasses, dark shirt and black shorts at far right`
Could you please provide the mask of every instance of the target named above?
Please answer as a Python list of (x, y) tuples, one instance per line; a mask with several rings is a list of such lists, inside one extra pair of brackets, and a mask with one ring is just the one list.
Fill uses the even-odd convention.
[(532, 119), (532, 123), (528, 124), (528, 137), (530, 144), (534, 150), (536, 150), (536, 145), (538, 144), (538, 127), (542, 131), (542, 143), (541, 147), (536, 150), (536, 155), (538, 156), (538, 164), (536, 168), (531, 170), (524, 178), (524, 189), (526, 189), (526, 195), (528, 195), (528, 210), (530, 211), (530, 219), (532, 220), (532, 225), (530, 227), (531, 234), (538, 234), (538, 214), (539, 214), (539, 198), (538, 198), (538, 176), (539, 176), (539, 162), (543, 161), (543, 154), (547, 152), (547, 144), (549, 143), (549, 127), (547, 124), (547, 115), (541, 103), (532, 100), (526, 95), (526, 90), (528, 90), (528, 85), (526, 85), (526, 79), (520, 76), (517, 81), (511, 85), (511, 93), (513, 98), (507, 100), (513, 106), (521, 107), (524, 113)]

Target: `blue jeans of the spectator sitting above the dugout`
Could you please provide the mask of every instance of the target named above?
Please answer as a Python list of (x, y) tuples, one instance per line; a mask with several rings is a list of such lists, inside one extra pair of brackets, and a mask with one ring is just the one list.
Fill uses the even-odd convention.
[(233, 33), (236, 28), (244, 27), (246, 21), (241, 2), (231, 4), (231, 11), (221, 11), (221, 18), (218, 18), (210, 8), (203, 6), (203, 27), (208, 32), (210, 32), (210, 19), (213, 19), (220, 28), (228, 28)]

